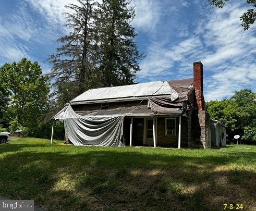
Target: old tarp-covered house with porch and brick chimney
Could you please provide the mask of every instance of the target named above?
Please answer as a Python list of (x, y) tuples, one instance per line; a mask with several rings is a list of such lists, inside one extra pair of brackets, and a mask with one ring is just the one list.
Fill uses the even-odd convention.
[(201, 61), (193, 78), (88, 90), (53, 119), (64, 121), (65, 141), (75, 145), (211, 146)]

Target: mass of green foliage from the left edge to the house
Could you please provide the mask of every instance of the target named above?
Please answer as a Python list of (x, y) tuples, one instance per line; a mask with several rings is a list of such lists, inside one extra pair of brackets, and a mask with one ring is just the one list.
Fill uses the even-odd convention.
[(0, 71), (0, 130), (44, 136), (43, 128), (51, 130), (51, 126), (42, 119), (53, 103), (48, 98), (50, 83), (40, 65), (23, 58), (18, 63), (4, 64)]

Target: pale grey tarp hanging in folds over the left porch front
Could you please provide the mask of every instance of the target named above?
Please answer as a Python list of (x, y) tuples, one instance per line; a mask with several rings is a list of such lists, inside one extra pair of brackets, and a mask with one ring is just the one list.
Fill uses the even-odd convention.
[(81, 116), (70, 105), (53, 119), (64, 122), (68, 139), (76, 146), (122, 146), (123, 116)]

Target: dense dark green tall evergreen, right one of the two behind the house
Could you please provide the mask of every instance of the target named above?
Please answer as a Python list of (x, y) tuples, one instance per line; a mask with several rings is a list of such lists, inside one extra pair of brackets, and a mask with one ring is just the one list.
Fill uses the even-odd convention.
[(134, 38), (137, 36), (131, 21), (135, 8), (130, 1), (103, 0), (95, 10), (96, 41), (103, 86), (132, 84), (140, 71), (139, 54)]

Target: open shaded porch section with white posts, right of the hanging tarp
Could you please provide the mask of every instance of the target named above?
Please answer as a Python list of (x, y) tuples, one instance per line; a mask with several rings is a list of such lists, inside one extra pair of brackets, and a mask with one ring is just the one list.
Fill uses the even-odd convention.
[(133, 116), (124, 119), (126, 146), (187, 147), (187, 117)]

